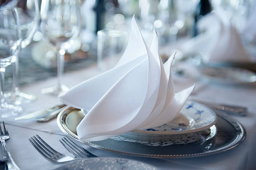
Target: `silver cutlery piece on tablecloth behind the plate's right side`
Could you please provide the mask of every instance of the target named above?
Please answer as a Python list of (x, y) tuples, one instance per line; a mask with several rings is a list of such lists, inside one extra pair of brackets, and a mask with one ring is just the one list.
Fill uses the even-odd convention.
[[(197, 100), (193, 100), (193, 101), (197, 101)], [(207, 107), (210, 107), (212, 109), (223, 110), (229, 114), (235, 114), (239, 116), (246, 116), (248, 114), (248, 109), (246, 107), (232, 106), (227, 104), (211, 104), (211, 103), (206, 103), (202, 101), (197, 101), (197, 102), (205, 104)]]

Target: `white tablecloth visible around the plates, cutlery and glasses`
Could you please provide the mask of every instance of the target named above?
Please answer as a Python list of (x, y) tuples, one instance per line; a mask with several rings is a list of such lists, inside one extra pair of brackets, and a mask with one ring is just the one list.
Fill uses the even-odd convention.
[[(168, 48), (162, 48), (162, 52), (168, 52)], [(106, 58), (104, 69), (110, 69), (114, 66), (118, 58)], [(187, 64), (180, 65), (183, 68), (189, 68)], [(97, 65), (93, 64), (79, 71), (72, 71), (63, 76), (64, 84), (72, 87), (84, 80), (99, 74)], [(35, 94), (37, 100), (31, 104), (23, 104), (23, 114), (28, 114), (40, 109), (46, 109), (58, 104), (57, 97), (46, 96), (41, 94), (41, 89), (47, 86), (55, 85), (56, 77), (38, 81), (21, 88), (22, 91)], [(246, 139), (238, 147), (217, 155), (197, 158), (173, 158), (173, 159), (157, 159), (134, 157), (128, 155), (120, 155), (117, 153), (97, 150), (92, 147), (84, 146), (87, 150), (98, 157), (124, 157), (133, 160), (139, 160), (148, 164), (166, 170), (253, 170), (256, 167), (256, 85), (220, 85), (206, 84), (202, 81), (188, 77), (174, 77), (176, 91), (183, 87), (188, 87), (196, 83), (194, 93), (189, 99), (197, 99), (212, 103), (233, 104), (248, 107), (248, 115), (246, 117), (235, 117), (246, 129)], [(6, 142), (8, 149), (21, 170), (53, 170), (61, 165), (52, 164), (45, 160), (28, 142), (28, 138), (35, 134), (41, 136), (49, 145), (59, 152), (70, 155), (67, 150), (60, 144), (59, 140), (64, 137), (56, 124), (56, 119), (47, 123), (38, 123), (34, 119), (15, 121), (15, 117), (2, 118), (5, 121), (10, 139)]]

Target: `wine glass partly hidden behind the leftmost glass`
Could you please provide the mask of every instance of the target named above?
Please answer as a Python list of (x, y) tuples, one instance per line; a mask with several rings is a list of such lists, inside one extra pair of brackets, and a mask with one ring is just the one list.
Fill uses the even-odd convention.
[[(17, 7), (21, 30), (21, 48), (26, 48), (32, 41), (36, 27), (39, 23), (40, 12), (38, 0), (11, 1), (5, 7)], [(26, 94), (18, 88), (18, 60), (13, 64), (13, 91), (5, 94), (5, 100), (10, 104), (30, 103), (36, 99), (32, 94)]]

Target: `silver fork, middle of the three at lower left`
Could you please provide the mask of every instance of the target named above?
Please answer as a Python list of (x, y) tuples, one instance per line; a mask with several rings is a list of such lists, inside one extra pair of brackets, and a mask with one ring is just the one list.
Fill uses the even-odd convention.
[(56, 150), (54, 150), (50, 145), (48, 145), (41, 137), (37, 134), (36, 136), (30, 137), (29, 142), (36, 148), (36, 150), (44, 157), (55, 164), (67, 163), (73, 160), (80, 160), (82, 158), (71, 157), (64, 155)]

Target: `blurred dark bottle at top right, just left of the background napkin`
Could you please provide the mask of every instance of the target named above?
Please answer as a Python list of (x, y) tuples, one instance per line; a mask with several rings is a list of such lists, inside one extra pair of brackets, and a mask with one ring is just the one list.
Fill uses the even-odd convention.
[(212, 5), (209, 2), (209, 0), (200, 0), (195, 12), (195, 24), (194, 24), (193, 36), (198, 35), (198, 30), (197, 30), (198, 20), (200, 20), (202, 16), (206, 15), (207, 13), (210, 13), (211, 11), (212, 11)]

